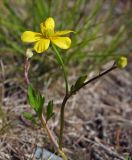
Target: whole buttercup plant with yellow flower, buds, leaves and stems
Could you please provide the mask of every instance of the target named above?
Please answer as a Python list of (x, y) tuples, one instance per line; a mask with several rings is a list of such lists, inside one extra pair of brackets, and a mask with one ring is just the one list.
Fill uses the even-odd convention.
[[(61, 155), (64, 160), (68, 160), (66, 154), (63, 151), (63, 131), (64, 131), (64, 113), (65, 113), (65, 105), (67, 100), (76, 94), (84, 86), (88, 85), (89, 83), (97, 80), (98, 78), (104, 76), (105, 74), (111, 72), (116, 68), (124, 68), (127, 65), (127, 58), (120, 57), (114, 64), (107, 70), (99, 73), (95, 77), (87, 80), (87, 75), (79, 77), (76, 82), (69, 88), (68, 80), (67, 80), (67, 73), (65, 70), (65, 64), (63, 63), (63, 59), (61, 54), (57, 50), (56, 46), (61, 49), (68, 49), (71, 46), (71, 39), (69, 37), (63, 37), (68, 33), (74, 32), (71, 30), (65, 31), (55, 31), (55, 22), (54, 19), (49, 17), (44, 22), (40, 24), (41, 33), (33, 32), (33, 31), (25, 31), (21, 39), (23, 42), (26, 43), (34, 43), (34, 47), (32, 49), (28, 49), (26, 52), (26, 61), (25, 61), (25, 81), (28, 85), (28, 101), (31, 107), (35, 110), (38, 118), (41, 121), (43, 128), (47, 131), (48, 137), (55, 147), (56, 151)], [(65, 80), (65, 96), (63, 98), (61, 108), (60, 108), (60, 132), (58, 139), (54, 136), (54, 133), (50, 130), (48, 125), (48, 120), (53, 116), (53, 101), (49, 101), (46, 112), (44, 114), (44, 102), (45, 97), (40, 94), (40, 92), (36, 91), (28, 78), (28, 71), (30, 67), (29, 58), (33, 56), (32, 50), (35, 50), (36, 53), (43, 53), (45, 52), (52, 43), (52, 49), (55, 52), (56, 60), (58, 61), (58, 65), (62, 68), (62, 72), (64, 75)], [(56, 45), (56, 46), (55, 46)], [(45, 54), (45, 53), (44, 53)], [(33, 120), (33, 117), (30, 113), (25, 113), (25, 117), (29, 120)]]

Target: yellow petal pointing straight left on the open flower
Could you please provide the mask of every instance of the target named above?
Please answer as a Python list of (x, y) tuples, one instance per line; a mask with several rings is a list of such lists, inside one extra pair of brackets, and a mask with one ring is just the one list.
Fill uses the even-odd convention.
[(27, 42), (27, 43), (36, 42), (36, 41), (40, 40), (41, 38), (42, 38), (41, 33), (32, 32), (32, 31), (25, 31), (21, 35), (21, 40), (23, 42)]

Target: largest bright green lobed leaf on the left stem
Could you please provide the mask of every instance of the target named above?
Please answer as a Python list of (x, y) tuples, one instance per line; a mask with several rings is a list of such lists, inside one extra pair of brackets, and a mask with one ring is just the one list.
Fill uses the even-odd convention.
[(28, 86), (28, 102), (37, 115), (40, 116), (43, 111), (45, 98), (40, 94), (40, 92), (35, 91), (31, 85)]

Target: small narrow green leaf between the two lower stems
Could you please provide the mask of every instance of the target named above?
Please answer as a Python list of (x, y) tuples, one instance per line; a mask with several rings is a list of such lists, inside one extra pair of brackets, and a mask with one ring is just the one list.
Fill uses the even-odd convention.
[(53, 115), (53, 101), (49, 101), (46, 111), (46, 121), (48, 121)]

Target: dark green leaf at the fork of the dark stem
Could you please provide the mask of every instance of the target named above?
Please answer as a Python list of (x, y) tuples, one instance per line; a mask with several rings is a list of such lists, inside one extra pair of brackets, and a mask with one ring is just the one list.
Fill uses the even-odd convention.
[(84, 81), (86, 80), (87, 75), (81, 76), (77, 79), (75, 85), (71, 86), (71, 92), (76, 93), (77, 90), (80, 89), (80, 87), (84, 84)]

